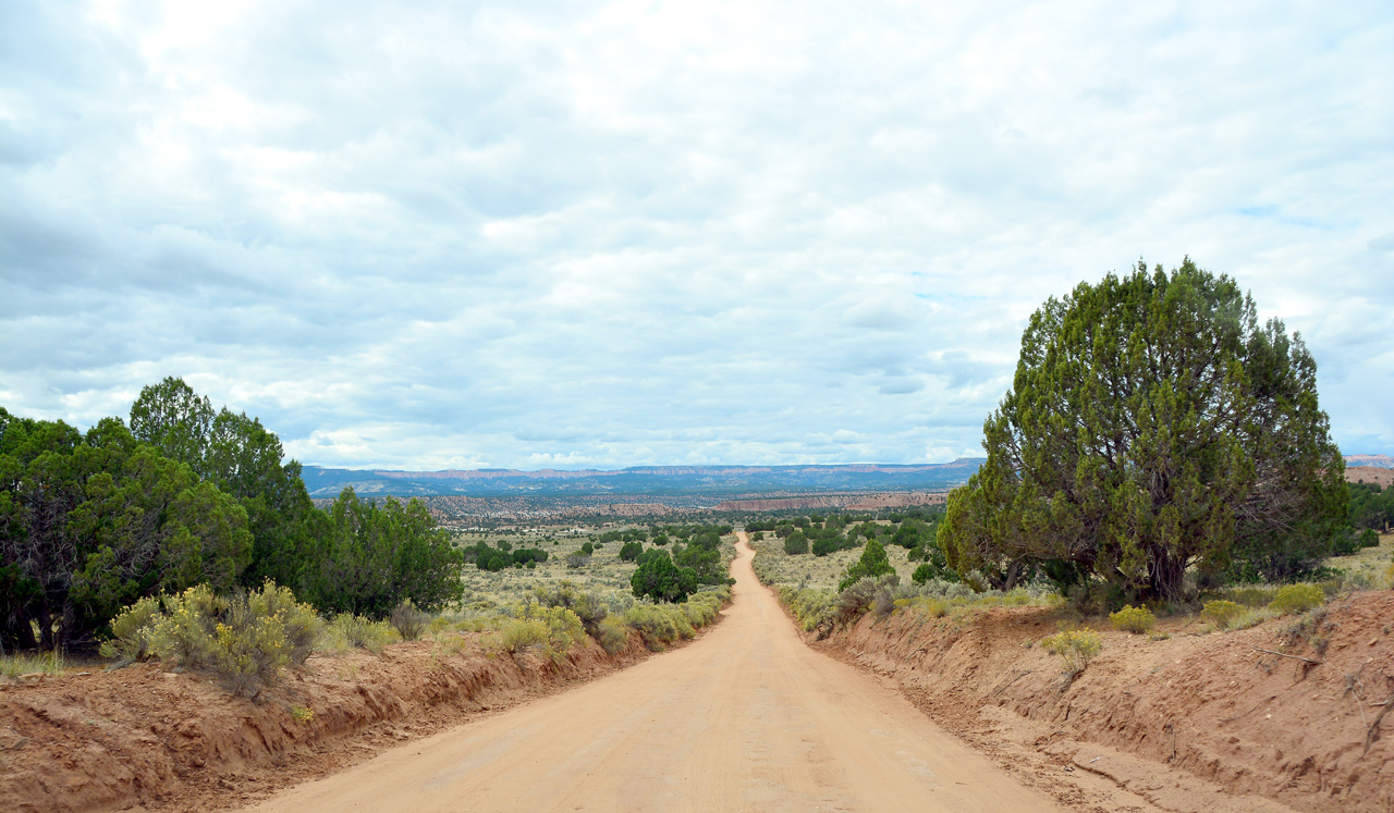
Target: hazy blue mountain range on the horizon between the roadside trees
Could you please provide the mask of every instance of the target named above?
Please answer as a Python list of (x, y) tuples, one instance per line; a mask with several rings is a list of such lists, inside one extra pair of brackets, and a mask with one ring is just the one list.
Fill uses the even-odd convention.
[(845, 464), (806, 466), (633, 466), (627, 469), (475, 469), (397, 472), (305, 466), (311, 497), (336, 497), (346, 486), (360, 496), (471, 497), (584, 494), (750, 494), (765, 491), (885, 491), (949, 489), (967, 482), (983, 458), (951, 464)]

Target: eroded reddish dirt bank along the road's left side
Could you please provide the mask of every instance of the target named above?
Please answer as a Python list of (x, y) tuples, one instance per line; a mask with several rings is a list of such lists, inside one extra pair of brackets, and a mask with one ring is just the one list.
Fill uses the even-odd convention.
[[(0, 686), (7, 810), (244, 805), (383, 748), (643, 660), (590, 639), (562, 663), (439, 643), (311, 657), (258, 702), (153, 665)], [(307, 714), (308, 710), (308, 714)], [(308, 718), (307, 718), (308, 717)]]

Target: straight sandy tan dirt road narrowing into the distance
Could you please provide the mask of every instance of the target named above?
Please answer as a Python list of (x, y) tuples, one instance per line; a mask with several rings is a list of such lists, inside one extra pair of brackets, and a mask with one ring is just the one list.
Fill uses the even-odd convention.
[(254, 810), (1055, 810), (810, 650), (750, 569), (690, 646), (421, 739)]

